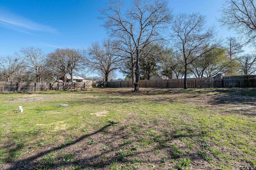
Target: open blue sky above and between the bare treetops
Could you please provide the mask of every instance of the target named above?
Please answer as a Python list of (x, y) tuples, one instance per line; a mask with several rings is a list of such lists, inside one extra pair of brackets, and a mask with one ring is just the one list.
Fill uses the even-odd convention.
[[(1, 0), (0, 55), (13, 55), (22, 47), (41, 48), (50, 53), (56, 48), (87, 48), (106, 38), (99, 8), (107, 0)], [(174, 14), (200, 12), (208, 25), (216, 25), (220, 37), (234, 36), (220, 28), (222, 0), (168, 0)], [(90, 76), (90, 75), (88, 75)], [(117, 78), (122, 78), (118, 74)]]

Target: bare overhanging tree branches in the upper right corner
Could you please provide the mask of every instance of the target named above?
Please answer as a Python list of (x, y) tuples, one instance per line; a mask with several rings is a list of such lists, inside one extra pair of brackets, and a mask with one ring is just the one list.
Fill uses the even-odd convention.
[(218, 19), (222, 26), (236, 31), (246, 43), (256, 38), (256, 3), (254, 0), (224, 0), (222, 15)]

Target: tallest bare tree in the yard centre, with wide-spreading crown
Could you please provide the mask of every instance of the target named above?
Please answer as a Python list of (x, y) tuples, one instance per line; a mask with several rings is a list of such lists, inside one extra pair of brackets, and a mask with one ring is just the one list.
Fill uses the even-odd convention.
[(134, 51), (129, 53), (131, 58), (136, 57), (134, 91), (138, 91), (141, 51), (148, 44), (162, 39), (160, 30), (172, 18), (168, 3), (166, 0), (133, 0), (131, 6), (125, 8), (124, 1), (110, 0), (107, 5), (101, 10), (102, 18), (106, 20), (103, 26), (120, 43), (132, 45)]

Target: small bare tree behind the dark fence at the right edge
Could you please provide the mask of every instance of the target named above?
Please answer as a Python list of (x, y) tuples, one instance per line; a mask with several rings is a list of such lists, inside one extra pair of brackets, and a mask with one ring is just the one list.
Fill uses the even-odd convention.
[(251, 54), (242, 55), (239, 59), (241, 70), (244, 75), (255, 74), (256, 72), (256, 56)]

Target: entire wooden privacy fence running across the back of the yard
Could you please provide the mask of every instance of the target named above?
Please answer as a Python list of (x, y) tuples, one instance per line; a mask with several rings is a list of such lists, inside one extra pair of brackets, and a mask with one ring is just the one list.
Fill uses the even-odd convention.
[[(256, 75), (209, 78), (187, 78), (188, 88), (256, 88)], [(142, 88), (184, 88), (184, 79), (140, 80)], [(0, 82), (0, 92), (35, 92), (46, 90), (76, 90), (92, 87), (132, 88), (131, 81), (121, 82)]]

